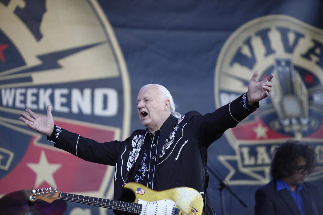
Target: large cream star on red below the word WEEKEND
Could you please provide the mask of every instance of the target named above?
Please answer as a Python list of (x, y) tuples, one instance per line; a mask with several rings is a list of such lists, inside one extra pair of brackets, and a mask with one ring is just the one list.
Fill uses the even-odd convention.
[(44, 151), (41, 151), (38, 163), (27, 163), (27, 166), (36, 173), (35, 187), (43, 182), (47, 182), (53, 187), (56, 186), (53, 174), (61, 167), (61, 164), (48, 163)]

